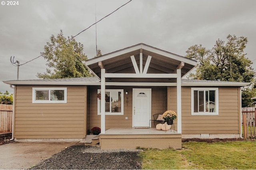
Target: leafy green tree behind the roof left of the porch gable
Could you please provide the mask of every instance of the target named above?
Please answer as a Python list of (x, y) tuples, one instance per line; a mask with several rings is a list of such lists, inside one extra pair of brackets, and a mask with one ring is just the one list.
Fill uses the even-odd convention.
[(41, 53), (44, 59), (47, 59), (46, 65), (49, 68), (46, 68), (46, 73), (37, 73), (38, 78), (60, 79), (91, 76), (82, 63), (87, 60), (87, 56), (83, 53), (83, 45), (76, 42), (74, 38), (67, 41), (68, 39), (63, 36), (62, 30), (57, 37), (54, 35), (50, 37), (50, 42), (44, 46), (44, 53)]

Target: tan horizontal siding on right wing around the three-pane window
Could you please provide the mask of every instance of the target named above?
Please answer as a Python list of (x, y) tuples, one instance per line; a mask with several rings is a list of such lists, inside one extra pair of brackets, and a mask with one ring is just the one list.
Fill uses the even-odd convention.
[[(219, 87), (219, 115), (191, 115), (191, 87), (182, 87), (182, 134), (239, 134), (240, 88)], [(168, 87), (168, 109), (176, 111), (176, 87)]]

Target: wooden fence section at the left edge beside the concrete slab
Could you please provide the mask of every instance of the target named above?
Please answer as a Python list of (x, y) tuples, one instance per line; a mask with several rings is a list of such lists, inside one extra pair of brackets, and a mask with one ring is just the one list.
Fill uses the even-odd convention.
[(0, 104), (0, 134), (12, 132), (12, 105)]

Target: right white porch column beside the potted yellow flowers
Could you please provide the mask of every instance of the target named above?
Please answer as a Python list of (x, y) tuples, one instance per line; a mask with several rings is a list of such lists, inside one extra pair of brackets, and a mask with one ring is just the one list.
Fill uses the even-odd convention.
[(181, 69), (177, 69), (177, 132), (181, 133)]

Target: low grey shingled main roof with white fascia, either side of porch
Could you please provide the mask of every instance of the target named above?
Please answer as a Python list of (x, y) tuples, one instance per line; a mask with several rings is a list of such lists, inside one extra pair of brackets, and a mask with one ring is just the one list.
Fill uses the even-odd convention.
[[(100, 85), (97, 77), (77, 77), (66, 79), (34, 79), (34, 80), (9, 80), (3, 81), (9, 85)], [(212, 81), (212, 80), (191, 80), (181, 79), (182, 86), (230, 86), (243, 87), (250, 83), (231, 82), (231, 81)], [(174, 84), (175, 85), (175, 84)], [(165, 86), (165, 85), (162, 85)]]

